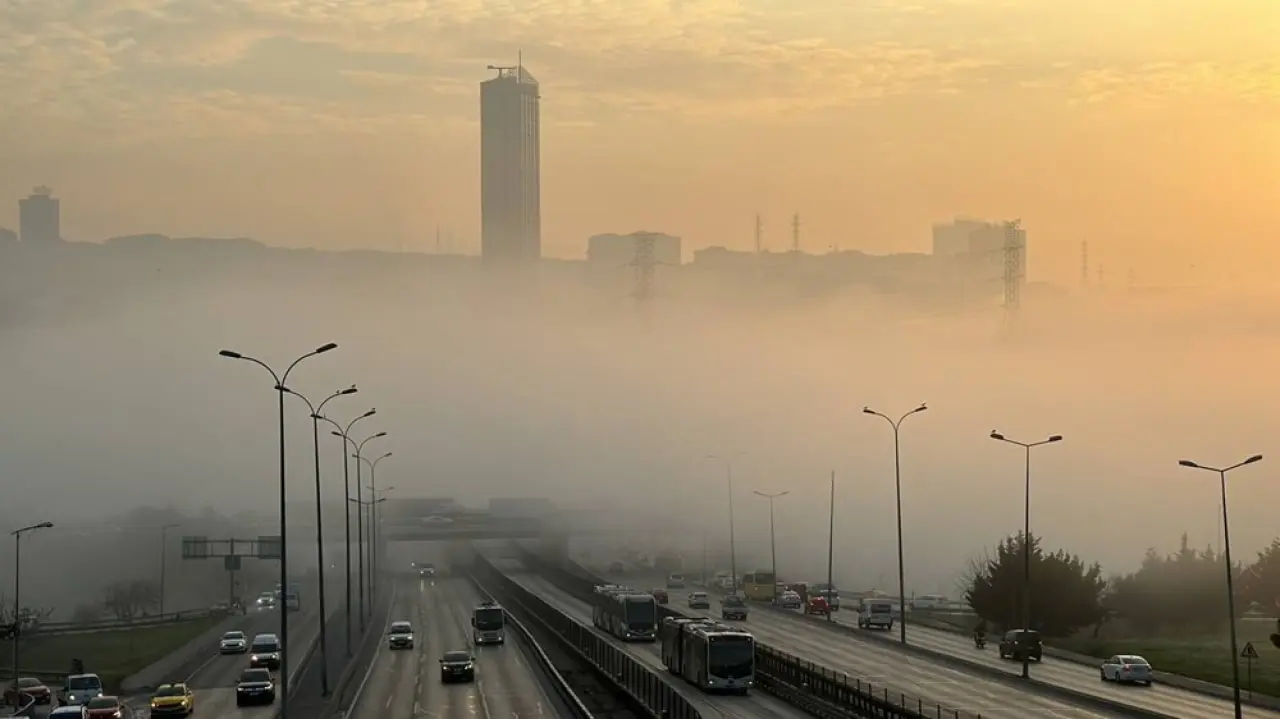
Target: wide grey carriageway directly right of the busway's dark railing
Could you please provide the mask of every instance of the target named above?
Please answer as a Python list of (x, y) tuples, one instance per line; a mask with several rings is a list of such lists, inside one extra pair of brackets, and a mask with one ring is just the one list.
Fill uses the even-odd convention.
[[(663, 583), (663, 580), (653, 577), (614, 577), (609, 581), (641, 591), (660, 587)], [(669, 606), (676, 612), (686, 615), (718, 617), (719, 597), (714, 594), (712, 612), (690, 609), (687, 592), (672, 590), (669, 595)], [(931, 663), (874, 640), (860, 641), (855, 636), (849, 636), (846, 640), (828, 628), (806, 626), (803, 618), (795, 619), (762, 606), (751, 605), (751, 614), (745, 626), (763, 644), (870, 682), (878, 691), (888, 687), (890, 695), (905, 692), (908, 696), (925, 700), (927, 706), (941, 704), (943, 714), (960, 710), (992, 719), (1121, 716), (1120, 711), (1107, 713), (1076, 706), (1060, 699), (992, 681), (978, 672)], [(969, 649), (977, 651), (972, 645)]]

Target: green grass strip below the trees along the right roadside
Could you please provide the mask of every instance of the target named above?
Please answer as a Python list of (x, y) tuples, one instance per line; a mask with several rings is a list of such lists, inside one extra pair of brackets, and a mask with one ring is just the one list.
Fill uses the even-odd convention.
[[(973, 618), (927, 615), (931, 626), (951, 628), (960, 633), (973, 631)], [(923, 619), (924, 617), (922, 617)], [(1243, 651), (1252, 642), (1258, 658), (1253, 660), (1253, 691), (1280, 696), (1280, 649), (1271, 644), (1275, 631), (1272, 619), (1242, 619), (1236, 623), (1236, 641)], [(1048, 646), (1065, 649), (1100, 660), (1116, 654), (1137, 654), (1151, 661), (1160, 672), (1181, 674), (1193, 679), (1231, 686), (1231, 638), (1228, 632), (1219, 635), (1169, 635), (1144, 637), (1126, 631), (1123, 622), (1102, 628), (1098, 637), (1088, 628), (1073, 637), (1051, 638)], [(1248, 664), (1240, 659), (1240, 688), (1249, 688)]]

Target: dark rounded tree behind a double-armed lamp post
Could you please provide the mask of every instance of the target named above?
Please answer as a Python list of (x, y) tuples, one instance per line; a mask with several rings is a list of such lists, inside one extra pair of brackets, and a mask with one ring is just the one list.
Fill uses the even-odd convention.
[[(1005, 537), (993, 557), (975, 560), (965, 580), (965, 600), (998, 627), (1023, 626), (1023, 535)], [(1046, 554), (1039, 539), (1030, 542), (1030, 627), (1046, 636), (1066, 636), (1102, 620), (1107, 582), (1102, 567), (1057, 550)]]

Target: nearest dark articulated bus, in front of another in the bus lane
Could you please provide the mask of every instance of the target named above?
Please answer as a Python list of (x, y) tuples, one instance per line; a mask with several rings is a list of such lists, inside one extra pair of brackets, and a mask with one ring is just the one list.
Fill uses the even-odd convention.
[(662, 620), (662, 663), (704, 692), (748, 693), (755, 684), (755, 637), (714, 619)]

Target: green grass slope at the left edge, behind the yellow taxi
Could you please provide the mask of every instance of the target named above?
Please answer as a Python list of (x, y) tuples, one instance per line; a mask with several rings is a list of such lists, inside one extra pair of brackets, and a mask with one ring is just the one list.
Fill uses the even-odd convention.
[[(204, 617), (133, 629), (114, 629), (78, 635), (33, 636), (22, 642), (19, 669), (23, 677), (46, 677), (45, 672), (65, 673), (72, 659), (84, 663), (84, 670), (97, 674), (109, 691), (152, 661), (165, 656), (218, 626), (221, 617)], [(13, 674), (13, 646), (0, 641), (0, 677)], [(56, 687), (54, 687), (56, 688)]]

